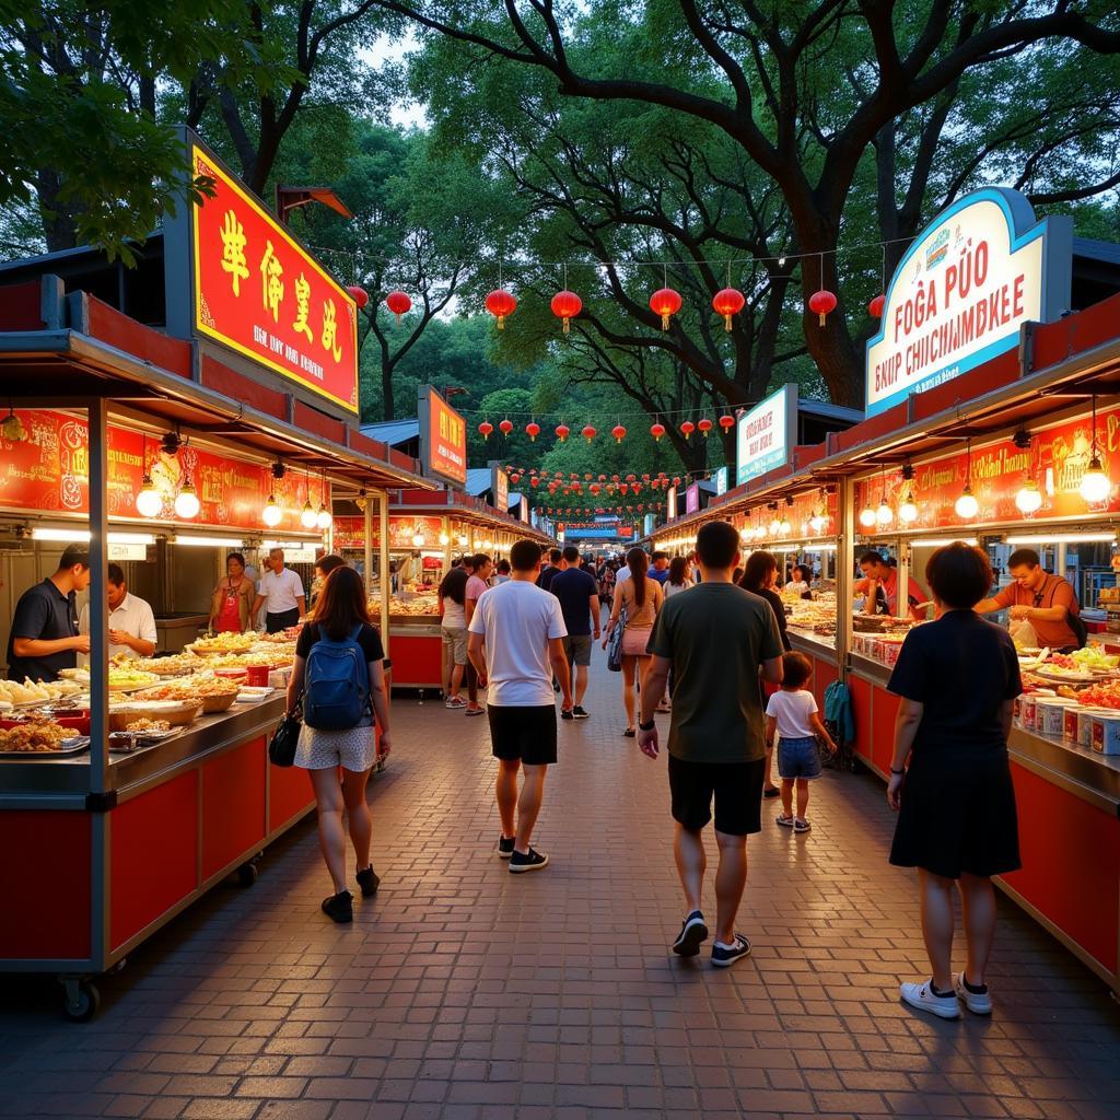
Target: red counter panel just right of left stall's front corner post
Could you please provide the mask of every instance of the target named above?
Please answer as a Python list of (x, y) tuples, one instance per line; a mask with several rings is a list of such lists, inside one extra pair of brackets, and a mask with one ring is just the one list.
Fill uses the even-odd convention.
[(109, 829), (109, 941), (115, 949), (198, 886), (198, 772), (119, 805)]

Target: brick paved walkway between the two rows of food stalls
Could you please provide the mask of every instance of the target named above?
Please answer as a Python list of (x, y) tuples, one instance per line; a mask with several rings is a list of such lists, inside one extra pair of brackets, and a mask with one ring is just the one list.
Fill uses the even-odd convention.
[(622, 738), (601, 678), (594, 718), (561, 726), (545, 871), (493, 856), (486, 721), (398, 698), (371, 785), (382, 887), (354, 925), (318, 913), (308, 824), (252, 890), (214, 892), (105, 979), (94, 1023), (60, 1021), (48, 983), (10, 981), (0, 1116), (1120, 1117), (1120, 1009), (1014, 907), (993, 1019), (899, 1005), (926, 965), (869, 777), (818, 783), (810, 836), (769, 822), (752, 841), (750, 960), (672, 959), (664, 763)]

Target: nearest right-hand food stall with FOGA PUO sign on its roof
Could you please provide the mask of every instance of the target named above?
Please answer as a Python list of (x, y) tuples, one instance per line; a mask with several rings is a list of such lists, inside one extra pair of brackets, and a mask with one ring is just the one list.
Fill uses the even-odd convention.
[[(715, 516), (743, 525), (745, 544), (794, 543), (794, 519), (790, 532), (758, 531), (767, 506), (834, 487), (834, 597), (820, 596), (803, 614), (812, 635), (791, 604), (791, 635), (812, 656), (814, 691), (830, 673), (850, 688), (855, 749), (880, 776), (898, 707), (886, 683), (905, 634), (921, 623), (858, 609), (860, 554), (889, 557), (899, 587), (913, 578), (920, 591), (932, 550), (953, 540), (987, 549), (999, 584), (1019, 547), (1067, 577), (1088, 608), (1090, 646), (1073, 656), (1020, 650), (1026, 691), (1009, 750), (1023, 868), (998, 883), (1120, 990), (1120, 674), (1112, 661), (1120, 654), (1120, 277), (1109, 272), (1114, 250), (1074, 242), (1070, 232), (1062, 218), (1035, 222), (1014, 192), (984, 190), (954, 205), (916, 239), (888, 287), (883, 328), (868, 344), (867, 419), (819, 447), (794, 448), (704, 514), (665, 526), (656, 543), (687, 547)], [(915, 314), (921, 292), (934, 288), (940, 298), (968, 268), (967, 306), (931, 306), (926, 296)], [(838, 653), (818, 643), (830, 616)]]

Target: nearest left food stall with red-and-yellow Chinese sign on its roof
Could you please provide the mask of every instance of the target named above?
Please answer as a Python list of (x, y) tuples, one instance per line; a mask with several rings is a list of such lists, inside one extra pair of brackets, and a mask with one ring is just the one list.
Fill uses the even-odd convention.
[[(227, 551), (259, 560), (279, 542), (310, 560), (330, 543), (333, 492), (364, 488), (388, 519), (389, 487), (429, 485), (352, 422), (353, 300), (213, 157), (193, 156), (217, 194), (146, 246), (142, 291), (124, 300), (139, 317), (83, 287), (118, 290), (93, 251), (0, 267), (6, 636), (12, 603), (67, 542), (88, 541), (91, 570), (88, 666), (0, 687), (0, 837), (21, 853), (0, 871), (19, 915), (0, 922), (0, 970), (56, 973), (78, 1020), (97, 1009), (96, 974), (231, 874), (252, 883), (259, 853), (314, 808), (306, 773), (265, 753), (295, 633), (205, 637), (196, 620), (164, 628), (167, 656), (111, 662), (106, 564), (167, 618), (208, 618)], [(272, 342), (296, 302), (280, 305), (274, 336), (254, 334), (252, 315), (244, 334), (237, 305), (223, 306), (230, 215), (250, 249), (305, 279), (310, 306), (333, 304), (332, 346), (314, 363), (298, 336)], [(260, 284), (242, 293), (259, 319)], [(177, 325), (184, 308), (190, 321)], [(66, 884), (49, 911), (44, 883)]]

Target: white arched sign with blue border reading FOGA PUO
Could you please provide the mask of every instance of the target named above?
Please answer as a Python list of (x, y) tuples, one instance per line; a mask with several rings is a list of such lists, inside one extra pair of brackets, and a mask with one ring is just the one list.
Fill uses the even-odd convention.
[(1024, 323), (1070, 309), (1073, 218), (1039, 222), (1017, 190), (989, 187), (943, 211), (902, 259), (867, 344), (867, 414), (1009, 351)]

